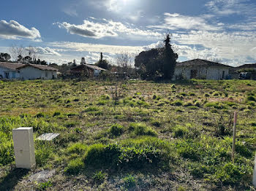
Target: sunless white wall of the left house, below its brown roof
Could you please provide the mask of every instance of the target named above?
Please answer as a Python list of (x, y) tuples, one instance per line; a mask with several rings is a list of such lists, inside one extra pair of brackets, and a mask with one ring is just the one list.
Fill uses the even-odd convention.
[(20, 69), (21, 79), (53, 79), (57, 78), (56, 71), (43, 71), (31, 66)]

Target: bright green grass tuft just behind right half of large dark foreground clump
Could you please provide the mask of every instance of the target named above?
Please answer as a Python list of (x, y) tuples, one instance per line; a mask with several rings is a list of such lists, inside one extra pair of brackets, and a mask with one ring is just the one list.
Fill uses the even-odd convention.
[(157, 136), (157, 131), (144, 123), (132, 123), (129, 127), (136, 136)]

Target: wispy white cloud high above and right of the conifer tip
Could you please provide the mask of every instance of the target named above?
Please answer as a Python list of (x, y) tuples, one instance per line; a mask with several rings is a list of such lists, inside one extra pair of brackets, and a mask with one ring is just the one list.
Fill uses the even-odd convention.
[(206, 30), (206, 31), (218, 31), (222, 29), (221, 26), (214, 26), (208, 24), (206, 18), (209, 15), (202, 15), (197, 17), (180, 15), (178, 13), (170, 14), (165, 12), (164, 23), (159, 26), (149, 26), (151, 28), (166, 28), (170, 30), (186, 29), (186, 30)]

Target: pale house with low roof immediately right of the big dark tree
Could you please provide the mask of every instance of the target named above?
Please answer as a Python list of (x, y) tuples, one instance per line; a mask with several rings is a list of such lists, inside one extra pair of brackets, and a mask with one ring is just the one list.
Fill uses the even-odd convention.
[(228, 79), (232, 66), (195, 59), (176, 64), (173, 79)]

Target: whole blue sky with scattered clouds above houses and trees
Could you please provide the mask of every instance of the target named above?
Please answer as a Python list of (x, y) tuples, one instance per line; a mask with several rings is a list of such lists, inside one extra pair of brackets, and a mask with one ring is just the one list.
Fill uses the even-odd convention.
[(3, 0), (0, 52), (34, 46), (40, 59), (114, 62), (162, 45), (166, 33), (178, 61), (256, 63), (255, 0)]

